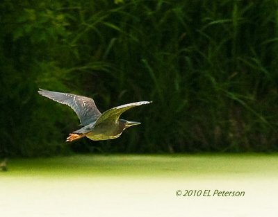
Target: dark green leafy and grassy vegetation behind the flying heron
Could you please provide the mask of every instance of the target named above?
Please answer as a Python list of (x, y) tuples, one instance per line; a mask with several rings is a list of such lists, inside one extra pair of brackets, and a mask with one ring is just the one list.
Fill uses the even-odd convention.
[[(0, 156), (278, 149), (277, 1), (0, 2)], [(79, 121), (38, 88), (142, 125), (65, 144)]]

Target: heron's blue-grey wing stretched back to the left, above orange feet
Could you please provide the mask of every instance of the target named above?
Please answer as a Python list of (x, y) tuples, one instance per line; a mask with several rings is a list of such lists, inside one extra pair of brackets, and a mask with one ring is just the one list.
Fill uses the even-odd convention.
[(88, 125), (101, 115), (92, 98), (40, 89), (38, 93), (58, 103), (70, 106), (79, 117), (81, 125)]

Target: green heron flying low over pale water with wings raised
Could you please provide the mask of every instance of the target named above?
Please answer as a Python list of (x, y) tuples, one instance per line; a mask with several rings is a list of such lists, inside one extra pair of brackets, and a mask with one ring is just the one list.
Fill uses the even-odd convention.
[(119, 119), (120, 115), (132, 107), (152, 103), (152, 101), (129, 103), (113, 107), (101, 114), (92, 98), (51, 92), (45, 89), (40, 89), (38, 93), (53, 101), (70, 106), (79, 117), (83, 128), (70, 133), (66, 141), (73, 141), (82, 137), (88, 137), (94, 141), (120, 137), (126, 128), (140, 124), (140, 122)]

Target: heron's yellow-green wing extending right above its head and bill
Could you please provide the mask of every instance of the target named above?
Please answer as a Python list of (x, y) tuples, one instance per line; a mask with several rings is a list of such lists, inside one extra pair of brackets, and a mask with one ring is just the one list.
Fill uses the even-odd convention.
[(140, 101), (136, 103), (129, 103), (125, 105), (120, 105), (117, 107), (113, 107), (110, 110), (107, 110), (106, 112), (102, 113), (101, 116), (97, 119), (95, 125), (98, 125), (99, 123), (106, 122), (116, 122), (120, 115), (125, 112), (126, 110), (131, 109), (131, 107), (136, 107), (139, 105), (149, 104), (152, 103), (152, 101)]

